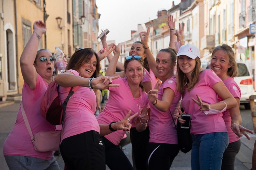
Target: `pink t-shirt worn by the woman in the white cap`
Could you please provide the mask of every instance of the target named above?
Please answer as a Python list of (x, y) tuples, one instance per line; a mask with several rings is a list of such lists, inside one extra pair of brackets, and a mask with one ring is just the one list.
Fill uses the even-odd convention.
[(211, 69), (206, 69), (200, 73), (198, 82), (192, 90), (188, 92), (187, 88), (184, 88), (181, 103), (184, 111), (191, 114), (190, 133), (206, 134), (212, 132), (227, 132), (222, 113), (205, 115), (203, 111), (199, 110), (200, 106), (191, 99), (194, 98), (197, 100), (196, 95), (198, 95), (205, 103), (217, 103), (217, 93), (212, 88), (220, 81), (221, 79)]

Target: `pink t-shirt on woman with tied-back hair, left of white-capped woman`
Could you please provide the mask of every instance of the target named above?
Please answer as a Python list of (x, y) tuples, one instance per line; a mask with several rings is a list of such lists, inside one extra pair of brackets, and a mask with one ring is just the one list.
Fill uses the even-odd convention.
[[(176, 91), (177, 81), (176, 76), (171, 77), (161, 84), (158, 90), (158, 100), (162, 100), (164, 89), (170, 88), (174, 91), (174, 98), (170, 105), (170, 110), (174, 121), (177, 117), (174, 114), (178, 113), (177, 107), (180, 107), (180, 92)], [(177, 130), (172, 120), (169, 109), (166, 112), (162, 112), (150, 103), (150, 138), (149, 142), (165, 143), (165, 144), (178, 144)]]

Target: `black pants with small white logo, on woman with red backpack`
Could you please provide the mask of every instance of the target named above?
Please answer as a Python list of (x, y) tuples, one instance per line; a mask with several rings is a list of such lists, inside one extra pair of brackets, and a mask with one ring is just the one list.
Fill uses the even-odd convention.
[(104, 147), (100, 134), (87, 131), (63, 139), (61, 156), (68, 170), (105, 170)]

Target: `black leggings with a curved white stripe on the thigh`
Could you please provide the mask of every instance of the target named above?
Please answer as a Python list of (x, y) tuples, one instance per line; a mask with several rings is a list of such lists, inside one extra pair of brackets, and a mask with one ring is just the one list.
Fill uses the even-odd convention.
[(173, 159), (180, 151), (179, 145), (148, 143), (149, 170), (169, 170)]

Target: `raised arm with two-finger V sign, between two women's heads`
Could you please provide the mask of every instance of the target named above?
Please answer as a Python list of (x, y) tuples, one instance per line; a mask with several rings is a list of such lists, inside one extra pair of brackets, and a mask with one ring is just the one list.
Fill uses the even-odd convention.
[(156, 71), (156, 67), (155, 67), (156, 60), (155, 60), (155, 58), (154, 58), (153, 54), (151, 53), (150, 48), (148, 46), (149, 32), (150, 32), (150, 25), (148, 26), (147, 32), (140, 32), (140, 40), (141, 40), (141, 43), (143, 44), (143, 46), (145, 48), (145, 52), (146, 52), (147, 60), (148, 60), (148, 65), (149, 65), (150, 69), (156, 75), (156, 77), (159, 77), (158, 73)]

